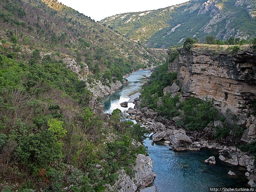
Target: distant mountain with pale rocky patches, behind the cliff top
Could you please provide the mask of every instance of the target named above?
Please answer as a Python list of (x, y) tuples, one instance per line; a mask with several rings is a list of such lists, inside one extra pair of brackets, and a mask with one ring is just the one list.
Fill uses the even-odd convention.
[(201, 41), (205, 36), (218, 39), (256, 37), (256, 1), (191, 0), (162, 9), (124, 13), (100, 23), (148, 47), (168, 48), (187, 37)]

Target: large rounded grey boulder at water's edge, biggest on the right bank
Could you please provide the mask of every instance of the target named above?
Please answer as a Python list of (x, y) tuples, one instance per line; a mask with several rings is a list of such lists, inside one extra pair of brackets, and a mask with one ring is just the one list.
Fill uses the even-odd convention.
[(171, 135), (170, 140), (172, 142), (172, 145), (174, 146), (175, 151), (186, 150), (188, 146), (192, 144), (191, 139), (187, 135), (180, 133)]

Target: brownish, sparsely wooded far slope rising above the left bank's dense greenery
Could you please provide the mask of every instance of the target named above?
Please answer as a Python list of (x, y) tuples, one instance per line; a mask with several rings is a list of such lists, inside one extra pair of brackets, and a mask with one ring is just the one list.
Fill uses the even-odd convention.
[[(9, 57), (27, 59), (28, 49), (38, 49), (42, 54), (75, 59), (81, 67), (88, 65), (92, 77), (102, 81), (111, 81), (112, 76), (121, 80), (122, 75), (157, 65), (163, 59), (159, 53), (142, 48), (57, 1), (44, 2), (1, 3), (0, 45), (14, 48), (17, 44), (15, 50), (6, 49), (13, 52)], [(104, 73), (107, 69), (110, 75)]]

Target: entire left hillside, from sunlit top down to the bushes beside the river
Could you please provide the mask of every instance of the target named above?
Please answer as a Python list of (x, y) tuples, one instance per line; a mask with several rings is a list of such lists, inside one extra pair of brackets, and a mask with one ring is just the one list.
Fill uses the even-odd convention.
[(57, 1), (1, 1), (0, 191), (103, 191), (118, 170), (133, 177), (145, 130), (102, 113), (89, 88), (162, 58)]

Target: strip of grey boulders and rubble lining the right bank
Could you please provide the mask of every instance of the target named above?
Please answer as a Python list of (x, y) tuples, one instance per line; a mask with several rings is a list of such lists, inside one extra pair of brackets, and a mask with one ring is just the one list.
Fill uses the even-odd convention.
[[(171, 87), (171, 86), (170, 86)], [(175, 88), (176, 86), (174, 86)], [(177, 91), (177, 89), (176, 89)], [(173, 93), (175, 94), (175, 93)], [(185, 100), (180, 93), (180, 101)], [(176, 127), (175, 123), (179, 117), (168, 120), (164, 118), (158, 118), (157, 113), (148, 108), (140, 107), (140, 98), (134, 99), (135, 107), (129, 108), (129, 119), (135, 119), (142, 126), (147, 127), (148, 130), (152, 131), (152, 143), (155, 141), (164, 141), (165, 145), (169, 145), (174, 151), (181, 150), (200, 150), (200, 149), (212, 149), (219, 152), (219, 159), (223, 162), (230, 164), (230, 166), (242, 166), (244, 167), (245, 176), (248, 179), (248, 185), (255, 187), (256, 181), (256, 169), (254, 165), (254, 156), (248, 152), (242, 152), (238, 147), (230, 144), (230, 142), (218, 142), (214, 139), (215, 127), (221, 126), (220, 121), (214, 121), (209, 123), (203, 131), (188, 131), (182, 127)], [(245, 114), (245, 113), (242, 113)], [(256, 121), (253, 115), (241, 115), (240, 123), (247, 123), (242, 140), (254, 141)], [(249, 122), (249, 123), (248, 123)], [(251, 127), (251, 129), (249, 128)], [(249, 139), (248, 139), (249, 138)], [(232, 142), (231, 142), (232, 143)], [(213, 162), (210, 157), (206, 163)], [(215, 161), (215, 158), (214, 158)], [(232, 172), (229, 172), (232, 176)], [(228, 173), (227, 173), (228, 174)], [(229, 175), (230, 175), (229, 174)]]

